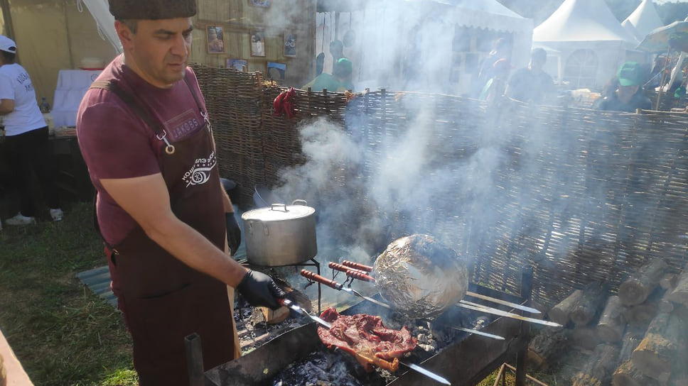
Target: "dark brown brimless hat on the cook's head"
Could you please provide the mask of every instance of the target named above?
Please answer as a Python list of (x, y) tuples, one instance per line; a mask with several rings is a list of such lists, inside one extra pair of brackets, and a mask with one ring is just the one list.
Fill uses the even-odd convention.
[(190, 18), (196, 14), (196, 0), (108, 0), (110, 13), (118, 20)]

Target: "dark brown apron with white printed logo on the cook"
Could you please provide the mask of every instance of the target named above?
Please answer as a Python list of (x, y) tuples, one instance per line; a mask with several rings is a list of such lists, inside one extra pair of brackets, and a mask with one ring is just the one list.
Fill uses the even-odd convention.
[[(151, 120), (151, 114), (141, 107), (144, 105), (117, 83), (95, 82), (92, 88), (115, 92), (154, 128), (161, 147), (165, 148), (158, 162), (173, 213), (217, 248), (225, 250), (218, 165), (215, 163), (207, 170), (209, 155), (215, 152), (213, 135), (193, 87), (189, 89), (205, 118), (205, 126), (192, 137), (173, 144), (165, 138), (161, 124)], [(183, 177), (199, 159), (205, 159), (200, 162), (203, 164), (200, 166), (205, 166), (201, 168), (205, 174), (185, 181)], [(205, 182), (194, 184), (190, 180)], [(105, 250), (112, 291), (117, 295), (119, 309), (134, 341), (134, 367), (139, 374), (139, 385), (188, 385), (184, 337), (190, 333), (200, 335), (205, 370), (235, 358), (238, 352), (235, 328), (224, 283), (174, 258), (138, 225), (117, 246), (106, 243)]]

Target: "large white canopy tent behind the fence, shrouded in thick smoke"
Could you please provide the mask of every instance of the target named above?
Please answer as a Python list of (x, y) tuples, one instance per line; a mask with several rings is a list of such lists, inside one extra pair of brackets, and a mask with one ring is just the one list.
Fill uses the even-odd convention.
[[(342, 13), (342, 9), (354, 11)], [(341, 40), (344, 31), (365, 36), (365, 44), (357, 42), (356, 46), (355, 57), (360, 60), (354, 61), (355, 69), (360, 68), (359, 89), (405, 87), (404, 79), (420, 76), (426, 78), (424, 82), (438, 84), (438, 90), (467, 92), (466, 82), (471, 80), (468, 70), (477, 67), (480, 57), (490, 50), (476, 50), (476, 39), (481, 45), (485, 41), (490, 45), (506, 35), (512, 45), (513, 65), (525, 66), (530, 58), (532, 19), (523, 18), (497, 0), (319, 0), (318, 11), (317, 50), (327, 54), (328, 42)], [(337, 20), (340, 26), (335, 24)], [(457, 45), (467, 49), (458, 53)], [(326, 72), (331, 68), (329, 60), (330, 55), (326, 55)], [(400, 62), (412, 62), (414, 68), (404, 69), (408, 65)], [(451, 88), (446, 87), (448, 77), (453, 78)], [(457, 87), (456, 83), (462, 84)]]

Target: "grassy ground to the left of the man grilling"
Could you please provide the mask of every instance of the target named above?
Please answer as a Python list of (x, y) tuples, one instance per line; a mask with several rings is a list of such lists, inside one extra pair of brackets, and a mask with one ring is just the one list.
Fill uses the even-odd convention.
[(75, 275), (105, 263), (90, 204), (0, 231), (0, 329), (38, 386), (134, 386), (122, 316)]

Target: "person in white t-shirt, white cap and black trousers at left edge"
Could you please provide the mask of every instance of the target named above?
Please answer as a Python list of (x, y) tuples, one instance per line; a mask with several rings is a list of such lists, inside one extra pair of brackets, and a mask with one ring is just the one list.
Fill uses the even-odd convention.
[(48, 147), (48, 126), (36, 102), (31, 77), (16, 60), (16, 43), (0, 35), (0, 116), (5, 126), (7, 163), (20, 195), (19, 213), (6, 225), (36, 223), (36, 192), (31, 175), (36, 173), (53, 221), (63, 218), (58, 189), (53, 180)]

